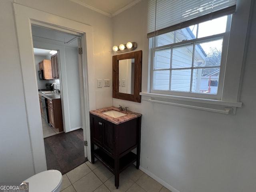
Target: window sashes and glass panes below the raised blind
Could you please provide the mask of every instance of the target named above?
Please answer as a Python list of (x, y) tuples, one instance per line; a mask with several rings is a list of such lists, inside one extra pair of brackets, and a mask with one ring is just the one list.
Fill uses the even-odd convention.
[[(223, 42), (228, 42), (231, 16), (167, 32), (150, 38), (152, 58), (152, 92), (164, 94), (221, 94), (218, 81), (225, 68)], [(224, 46), (227, 47), (227, 46)], [(222, 59), (223, 58), (223, 59)], [(211, 81), (211, 83), (209, 83)], [(212, 82), (217, 82), (213, 83)], [(180, 93), (183, 92), (183, 93)], [(185, 93), (185, 94), (184, 94)], [(192, 94), (191, 94), (192, 93)]]

